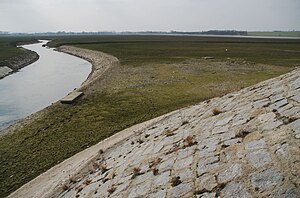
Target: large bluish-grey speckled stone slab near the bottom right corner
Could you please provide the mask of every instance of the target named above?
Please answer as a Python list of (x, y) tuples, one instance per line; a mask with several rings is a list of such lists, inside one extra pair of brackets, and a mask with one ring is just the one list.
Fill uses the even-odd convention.
[(283, 178), (279, 171), (271, 168), (259, 173), (254, 173), (251, 176), (251, 184), (254, 188), (262, 192), (270, 187), (276, 186), (282, 182)]

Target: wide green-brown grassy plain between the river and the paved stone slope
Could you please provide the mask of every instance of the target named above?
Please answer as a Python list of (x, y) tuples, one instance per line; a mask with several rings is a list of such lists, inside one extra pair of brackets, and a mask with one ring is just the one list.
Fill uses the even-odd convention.
[(76, 105), (49, 107), (0, 138), (0, 197), (124, 128), (300, 65), (299, 40), (73, 36), (51, 43), (61, 44), (101, 50), (121, 64), (87, 87)]

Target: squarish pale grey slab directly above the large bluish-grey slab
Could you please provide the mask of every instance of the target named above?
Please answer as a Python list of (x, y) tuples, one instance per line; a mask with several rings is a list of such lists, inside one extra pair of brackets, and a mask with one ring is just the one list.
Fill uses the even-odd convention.
[(248, 153), (248, 160), (255, 168), (265, 166), (272, 162), (270, 154), (263, 149)]

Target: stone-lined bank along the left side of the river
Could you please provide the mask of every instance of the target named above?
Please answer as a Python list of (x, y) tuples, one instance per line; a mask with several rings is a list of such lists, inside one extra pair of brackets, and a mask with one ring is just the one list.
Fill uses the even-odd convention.
[(39, 55), (36, 52), (27, 49), (23, 50), (25, 50), (23, 54), (0, 62), (0, 79), (39, 59)]

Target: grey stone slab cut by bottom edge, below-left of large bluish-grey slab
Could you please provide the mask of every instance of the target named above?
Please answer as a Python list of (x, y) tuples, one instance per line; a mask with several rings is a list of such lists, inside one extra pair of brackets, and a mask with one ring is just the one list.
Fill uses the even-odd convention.
[(242, 183), (230, 182), (221, 191), (221, 197), (224, 198), (252, 198), (252, 195), (246, 190)]

